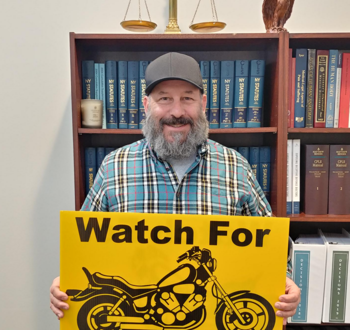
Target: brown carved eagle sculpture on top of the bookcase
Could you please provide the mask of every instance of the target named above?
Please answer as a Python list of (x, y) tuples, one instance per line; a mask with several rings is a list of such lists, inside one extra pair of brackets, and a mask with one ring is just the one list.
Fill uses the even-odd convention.
[(290, 17), (294, 0), (263, 0), (262, 18), (266, 32), (286, 31), (283, 27)]

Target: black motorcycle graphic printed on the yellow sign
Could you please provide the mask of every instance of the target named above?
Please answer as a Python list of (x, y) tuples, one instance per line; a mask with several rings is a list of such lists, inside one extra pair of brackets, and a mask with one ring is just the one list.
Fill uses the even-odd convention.
[(198, 327), (205, 320), (205, 286), (213, 282), (218, 330), (271, 330), (275, 323), (272, 306), (247, 290), (227, 294), (213, 275), (216, 259), (208, 249), (193, 246), (180, 255), (179, 265), (155, 285), (136, 286), (119, 276), (92, 275), (84, 290), (67, 290), (71, 301), (86, 302), (77, 315), (79, 330), (162, 330)]

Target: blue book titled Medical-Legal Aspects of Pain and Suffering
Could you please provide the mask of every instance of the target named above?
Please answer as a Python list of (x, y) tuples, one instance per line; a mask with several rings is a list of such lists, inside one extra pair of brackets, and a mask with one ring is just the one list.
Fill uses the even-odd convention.
[(294, 127), (305, 127), (307, 49), (295, 53)]

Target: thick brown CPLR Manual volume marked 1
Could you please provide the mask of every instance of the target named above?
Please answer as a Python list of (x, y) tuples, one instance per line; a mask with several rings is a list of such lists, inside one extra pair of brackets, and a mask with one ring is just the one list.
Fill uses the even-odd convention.
[(306, 144), (303, 150), (305, 214), (327, 214), (329, 145)]

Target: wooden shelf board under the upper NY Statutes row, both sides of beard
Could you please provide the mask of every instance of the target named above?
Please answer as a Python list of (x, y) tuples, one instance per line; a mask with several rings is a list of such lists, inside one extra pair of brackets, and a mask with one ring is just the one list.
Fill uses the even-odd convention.
[[(209, 129), (210, 134), (222, 133), (276, 133), (277, 127), (259, 128), (218, 128)], [(78, 128), (79, 134), (141, 134), (141, 129), (100, 129), (100, 128)]]

